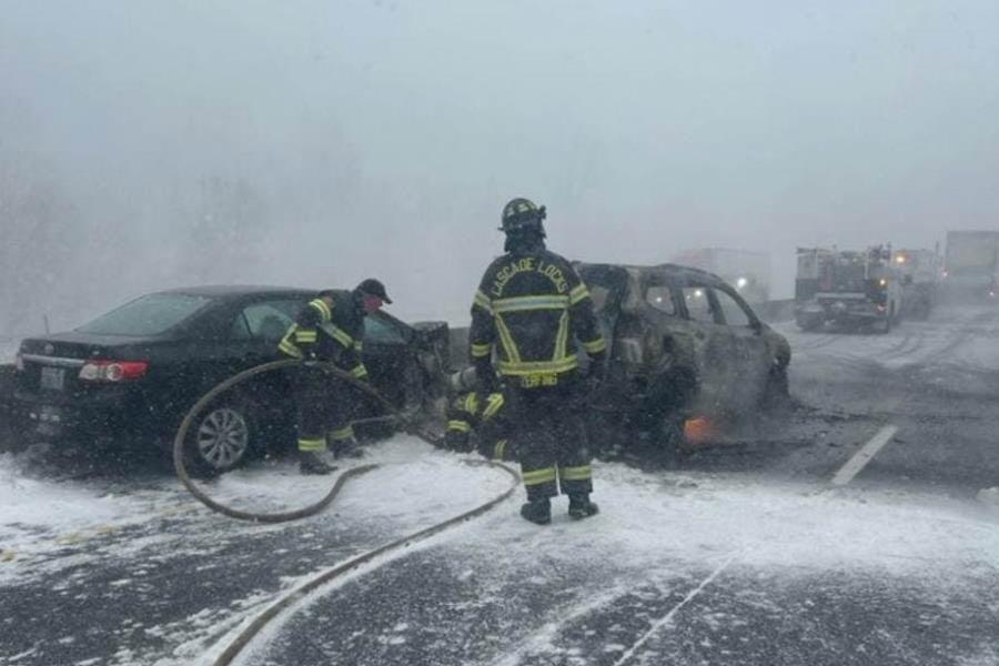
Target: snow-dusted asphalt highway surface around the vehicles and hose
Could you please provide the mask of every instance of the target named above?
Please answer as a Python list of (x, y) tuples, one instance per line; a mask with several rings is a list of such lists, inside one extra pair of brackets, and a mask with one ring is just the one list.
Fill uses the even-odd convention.
[[(526, 524), (518, 493), (310, 595), (238, 663), (999, 663), (999, 314), (786, 332), (797, 408), (675, 468), (596, 464), (583, 523)], [(365, 462), (326, 513), (260, 526), (162, 467), (0, 455), (0, 665), (209, 664), (304, 582), (508, 485), (408, 437)], [(260, 511), (330, 483), (269, 462), (208, 487)]]

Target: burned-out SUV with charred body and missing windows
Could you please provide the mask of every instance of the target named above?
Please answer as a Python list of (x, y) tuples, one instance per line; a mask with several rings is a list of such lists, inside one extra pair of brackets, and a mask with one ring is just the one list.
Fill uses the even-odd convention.
[(787, 340), (720, 278), (674, 264), (576, 269), (610, 347), (594, 404), (605, 433), (678, 444), (688, 420), (751, 413), (787, 394)]

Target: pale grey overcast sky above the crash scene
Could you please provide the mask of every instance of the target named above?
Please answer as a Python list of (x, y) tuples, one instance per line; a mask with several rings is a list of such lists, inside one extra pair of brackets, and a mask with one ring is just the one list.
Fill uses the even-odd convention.
[[(375, 275), (461, 321), (519, 195), (571, 258), (767, 251), (777, 295), (796, 245), (999, 228), (995, 0), (0, 0), (0, 160), (120, 258), (49, 269), (97, 310)], [(213, 178), (256, 192), (252, 260), (184, 238)]]

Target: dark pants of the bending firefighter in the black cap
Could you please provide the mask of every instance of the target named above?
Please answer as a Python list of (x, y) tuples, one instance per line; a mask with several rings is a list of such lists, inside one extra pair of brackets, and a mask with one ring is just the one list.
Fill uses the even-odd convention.
[(294, 377), (299, 413), (299, 451), (326, 451), (327, 441), (354, 438), (350, 387), (319, 367), (301, 367)]

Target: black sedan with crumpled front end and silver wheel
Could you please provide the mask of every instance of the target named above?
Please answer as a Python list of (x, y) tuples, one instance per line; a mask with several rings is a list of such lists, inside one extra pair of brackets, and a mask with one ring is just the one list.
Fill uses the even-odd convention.
[[(225, 379), (282, 357), (278, 343), (316, 292), (203, 286), (139, 297), (68, 333), (31, 337), (17, 357), (16, 413), (48, 441), (128, 438), (169, 444), (191, 406)], [(364, 362), (375, 389), (404, 410), (443, 390), (443, 322), (366, 319)], [(293, 371), (291, 371), (293, 372)], [(220, 396), (191, 428), (189, 460), (224, 472), (294, 441), (289, 377), (261, 375)], [(359, 393), (356, 416), (381, 408)]]

